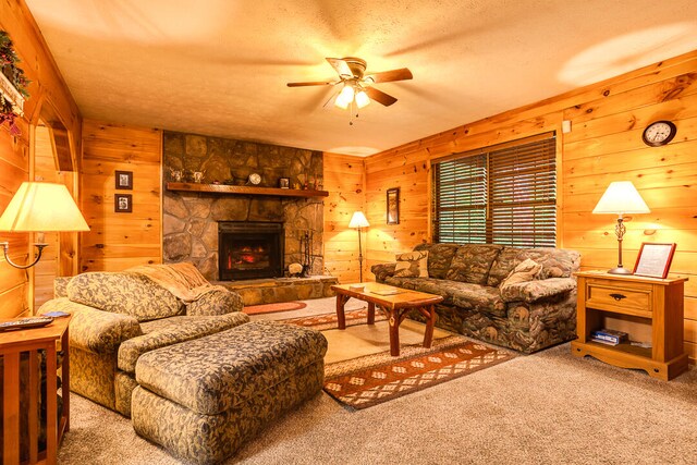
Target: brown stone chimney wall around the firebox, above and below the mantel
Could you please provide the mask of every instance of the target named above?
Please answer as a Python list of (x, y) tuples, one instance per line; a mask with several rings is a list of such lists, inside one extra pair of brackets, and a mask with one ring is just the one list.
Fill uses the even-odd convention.
[(221, 264), (228, 264), (229, 252), (220, 248), (219, 223), (277, 223), (282, 224), (282, 244), (279, 245), (282, 259), (280, 271), (274, 267), (276, 272), (285, 271), (290, 264), (302, 264), (301, 241), (308, 235), (313, 245), (310, 273), (322, 274), (321, 199), (167, 189), (173, 170), (183, 170), (189, 178), (187, 182), (192, 181), (193, 172), (204, 172), (204, 184), (244, 185), (250, 173), (258, 173), (261, 176), (259, 187), (277, 187), (280, 178), (290, 179), (291, 186), (321, 185), (320, 151), (166, 131), (162, 159), (166, 264), (192, 261), (206, 279), (218, 281)]

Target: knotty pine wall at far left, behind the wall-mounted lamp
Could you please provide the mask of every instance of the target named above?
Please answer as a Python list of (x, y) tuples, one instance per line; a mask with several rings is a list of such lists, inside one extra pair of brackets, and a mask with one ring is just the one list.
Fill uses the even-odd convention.
[[(24, 1), (8, 0), (0, 3), (0, 28), (8, 32), (22, 62), (27, 78), (30, 98), (25, 102), (25, 115), (17, 119), (22, 135), (10, 136), (7, 125), (0, 129), (0, 211), (10, 203), (23, 181), (33, 174), (33, 127), (45, 108), (60, 119), (68, 130), (73, 148), (80, 149), (81, 117), (77, 106), (65, 85), (48, 46)], [(29, 247), (28, 234), (2, 234), (0, 241), (8, 240), (11, 258), (24, 262), (34, 254)], [(0, 317), (13, 317), (32, 309), (33, 271), (10, 267), (0, 258)]]

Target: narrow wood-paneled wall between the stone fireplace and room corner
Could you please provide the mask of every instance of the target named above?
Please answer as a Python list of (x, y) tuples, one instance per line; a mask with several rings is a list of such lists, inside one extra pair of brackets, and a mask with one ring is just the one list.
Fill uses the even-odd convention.
[[(358, 233), (348, 229), (348, 221), (365, 206), (364, 159), (325, 152), (323, 166), (325, 189), (329, 191), (325, 199), (325, 272), (339, 278), (340, 283), (358, 282)], [(365, 246), (364, 241), (364, 255)]]

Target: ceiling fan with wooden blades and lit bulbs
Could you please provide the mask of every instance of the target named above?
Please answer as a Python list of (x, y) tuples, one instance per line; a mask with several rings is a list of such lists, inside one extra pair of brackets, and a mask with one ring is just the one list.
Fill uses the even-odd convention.
[(358, 108), (363, 108), (370, 103), (370, 99), (389, 107), (396, 101), (396, 98), (376, 89), (372, 87), (374, 84), (406, 81), (414, 77), (406, 68), (366, 74), (366, 61), (356, 57), (327, 58), (327, 61), (339, 73), (339, 81), (288, 83), (288, 86), (335, 86), (343, 83), (344, 87), (334, 101), (337, 107), (346, 109), (350, 103), (355, 101)]

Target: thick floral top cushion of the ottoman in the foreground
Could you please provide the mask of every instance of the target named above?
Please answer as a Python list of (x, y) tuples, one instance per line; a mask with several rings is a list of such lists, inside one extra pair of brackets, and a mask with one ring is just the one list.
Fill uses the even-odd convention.
[(194, 412), (216, 415), (244, 405), (304, 367), (321, 364), (326, 353), (327, 339), (319, 331), (253, 321), (144, 354), (136, 380)]

